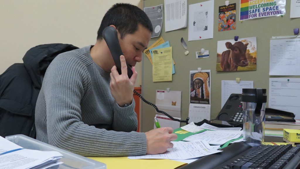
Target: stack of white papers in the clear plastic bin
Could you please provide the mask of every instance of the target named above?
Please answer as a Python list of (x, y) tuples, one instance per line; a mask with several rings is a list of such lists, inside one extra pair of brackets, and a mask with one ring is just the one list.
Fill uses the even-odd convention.
[(21, 146), (0, 137), (0, 169), (46, 169), (58, 168), (62, 155), (56, 151), (23, 149)]

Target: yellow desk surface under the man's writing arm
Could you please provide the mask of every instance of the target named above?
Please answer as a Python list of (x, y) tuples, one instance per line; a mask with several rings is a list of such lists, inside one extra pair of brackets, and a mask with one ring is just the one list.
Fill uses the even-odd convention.
[(106, 164), (107, 169), (174, 169), (183, 164), (183, 162), (168, 159), (128, 159), (127, 157), (88, 157), (90, 159)]

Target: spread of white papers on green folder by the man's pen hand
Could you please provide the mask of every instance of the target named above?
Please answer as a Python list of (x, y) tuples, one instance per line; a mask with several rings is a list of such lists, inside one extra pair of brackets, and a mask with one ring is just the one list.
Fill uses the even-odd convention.
[(192, 162), (197, 160), (199, 157), (222, 152), (218, 150), (220, 149), (220, 145), (224, 145), (225, 143), (229, 144), (229, 142), (233, 140), (237, 140), (236, 142), (241, 141), (240, 138), (242, 135), (241, 128), (217, 128), (206, 123), (201, 126), (197, 126), (193, 122), (191, 122), (190, 124), (187, 124), (180, 129), (183, 130), (181, 130), (180, 132), (176, 131), (175, 133), (180, 133), (179, 135), (188, 133), (193, 134), (188, 134), (189, 136), (184, 139), (177, 139), (177, 141), (173, 141), (173, 148), (167, 149), (165, 153), (156, 155), (146, 154), (139, 156), (129, 156), (128, 158), (171, 159), (189, 163), (188, 161), (184, 160), (190, 159), (190, 162)]

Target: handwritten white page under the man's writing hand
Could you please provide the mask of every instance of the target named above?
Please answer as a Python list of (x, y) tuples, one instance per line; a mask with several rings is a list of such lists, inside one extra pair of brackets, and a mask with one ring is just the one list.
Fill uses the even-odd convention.
[(167, 149), (165, 153), (155, 155), (146, 154), (138, 156), (128, 156), (128, 158), (185, 160), (222, 152), (220, 150), (214, 149), (214, 147), (211, 147), (205, 140), (172, 143), (174, 144), (173, 148)]

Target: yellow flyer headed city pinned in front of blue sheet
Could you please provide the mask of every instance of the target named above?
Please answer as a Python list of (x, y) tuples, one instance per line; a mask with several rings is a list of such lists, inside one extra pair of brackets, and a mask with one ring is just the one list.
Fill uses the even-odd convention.
[(172, 81), (172, 47), (152, 50), (152, 77), (156, 81)]

